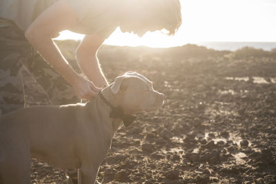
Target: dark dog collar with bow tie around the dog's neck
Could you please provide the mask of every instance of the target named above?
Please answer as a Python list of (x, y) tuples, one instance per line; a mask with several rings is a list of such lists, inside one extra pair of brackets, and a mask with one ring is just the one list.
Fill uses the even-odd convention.
[(111, 105), (108, 100), (103, 96), (102, 92), (99, 92), (99, 97), (101, 100), (106, 103), (111, 108), (110, 118), (121, 119), (126, 127), (128, 127), (133, 121), (135, 121), (136, 116), (124, 114), (124, 111), (121, 107), (114, 107)]

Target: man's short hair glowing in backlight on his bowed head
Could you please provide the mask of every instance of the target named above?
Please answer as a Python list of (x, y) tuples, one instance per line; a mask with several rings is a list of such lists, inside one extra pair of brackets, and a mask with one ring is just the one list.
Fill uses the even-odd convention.
[[(152, 1), (152, 0), (150, 0)], [(181, 4), (179, 0), (158, 0), (161, 6), (157, 6), (157, 16), (161, 19), (161, 25), (168, 30), (168, 35), (173, 35), (182, 23)]]

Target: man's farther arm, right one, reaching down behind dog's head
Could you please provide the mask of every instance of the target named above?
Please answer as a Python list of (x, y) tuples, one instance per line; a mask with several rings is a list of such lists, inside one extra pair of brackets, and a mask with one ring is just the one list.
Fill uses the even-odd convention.
[(104, 40), (98, 34), (86, 35), (77, 49), (79, 68), (99, 88), (108, 85), (97, 59), (97, 50)]

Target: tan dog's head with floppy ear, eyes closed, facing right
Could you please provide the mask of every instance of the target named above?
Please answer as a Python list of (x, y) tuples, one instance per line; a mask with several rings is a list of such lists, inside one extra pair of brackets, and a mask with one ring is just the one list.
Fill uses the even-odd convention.
[(118, 76), (110, 90), (126, 114), (157, 110), (164, 103), (164, 94), (155, 91), (152, 82), (137, 72)]

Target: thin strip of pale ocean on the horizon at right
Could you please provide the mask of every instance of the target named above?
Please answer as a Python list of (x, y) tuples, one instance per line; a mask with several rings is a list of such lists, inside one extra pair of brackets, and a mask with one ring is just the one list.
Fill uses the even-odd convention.
[(270, 51), (276, 48), (276, 42), (230, 42), (230, 41), (210, 41), (210, 42), (196, 42), (191, 43), (196, 45), (205, 46), (215, 50), (231, 50), (235, 51), (240, 48), (250, 47)]

